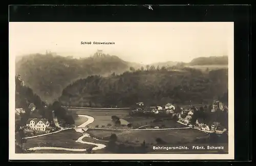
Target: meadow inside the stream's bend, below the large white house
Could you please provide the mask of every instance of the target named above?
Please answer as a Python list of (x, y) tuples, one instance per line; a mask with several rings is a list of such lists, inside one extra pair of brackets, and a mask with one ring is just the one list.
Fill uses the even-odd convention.
[[(33, 147), (60, 147), (60, 148), (81, 148), (86, 149), (95, 147), (93, 145), (76, 143), (75, 141), (81, 136), (81, 133), (73, 129), (61, 131), (55, 134), (27, 139), (25, 149)], [(48, 151), (48, 150), (41, 150)], [(48, 152), (47, 152), (48, 153)]]

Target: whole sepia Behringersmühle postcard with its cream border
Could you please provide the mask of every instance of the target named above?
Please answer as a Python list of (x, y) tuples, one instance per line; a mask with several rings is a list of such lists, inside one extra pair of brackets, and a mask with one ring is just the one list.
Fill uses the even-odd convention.
[(9, 159), (234, 159), (233, 22), (9, 22)]

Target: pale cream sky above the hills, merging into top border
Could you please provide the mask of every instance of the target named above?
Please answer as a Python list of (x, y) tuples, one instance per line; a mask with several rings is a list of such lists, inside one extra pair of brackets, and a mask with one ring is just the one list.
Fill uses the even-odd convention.
[[(10, 22), (10, 55), (33, 53), (88, 57), (97, 49), (126, 61), (189, 62), (228, 55), (232, 22)], [(81, 45), (81, 41), (115, 42)]]

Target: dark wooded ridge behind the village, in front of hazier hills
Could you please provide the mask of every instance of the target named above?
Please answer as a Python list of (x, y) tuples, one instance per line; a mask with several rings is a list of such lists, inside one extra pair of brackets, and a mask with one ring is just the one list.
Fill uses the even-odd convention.
[[(89, 76), (62, 91), (62, 105), (82, 107), (131, 107), (145, 105), (199, 104), (221, 99), (227, 103), (228, 70), (202, 72), (193, 68), (179, 70), (131, 70), (110, 77)], [(225, 95), (224, 95), (225, 94)]]

